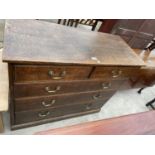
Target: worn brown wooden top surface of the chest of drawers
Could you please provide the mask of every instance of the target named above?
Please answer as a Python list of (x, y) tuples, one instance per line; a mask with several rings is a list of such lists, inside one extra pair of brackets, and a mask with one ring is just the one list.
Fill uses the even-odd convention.
[(119, 37), (37, 20), (7, 20), (3, 61), (143, 66)]

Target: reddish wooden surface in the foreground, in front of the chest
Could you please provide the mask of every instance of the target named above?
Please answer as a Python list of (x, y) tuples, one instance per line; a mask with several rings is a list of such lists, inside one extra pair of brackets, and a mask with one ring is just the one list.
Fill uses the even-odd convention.
[(155, 111), (51, 129), (39, 135), (142, 135), (155, 134)]

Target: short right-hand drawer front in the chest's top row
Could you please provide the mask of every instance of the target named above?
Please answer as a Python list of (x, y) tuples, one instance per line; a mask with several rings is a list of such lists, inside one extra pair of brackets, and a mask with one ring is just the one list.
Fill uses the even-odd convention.
[(96, 79), (125, 79), (138, 76), (140, 68), (137, 67), (96, 67), (91, 78)]

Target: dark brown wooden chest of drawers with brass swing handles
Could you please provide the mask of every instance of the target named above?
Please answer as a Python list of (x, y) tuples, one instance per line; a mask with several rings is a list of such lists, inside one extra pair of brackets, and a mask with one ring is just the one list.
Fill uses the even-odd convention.
[(35, 20), (6, 22), (3, 61), (12, 129), (99, 112), (144, 65), (119, 36)]

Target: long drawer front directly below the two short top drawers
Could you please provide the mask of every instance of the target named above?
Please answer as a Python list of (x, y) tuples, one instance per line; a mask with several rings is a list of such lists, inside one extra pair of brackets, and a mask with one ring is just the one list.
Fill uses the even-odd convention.
[(112, 90), (118, 89), (123, 80), (103, 81), (103, 80), (83, 80), (74, 82), (44, 82), (44, 83), (27, 83), (14, 84), (15, 98), (55, 95), (95, 90)]

